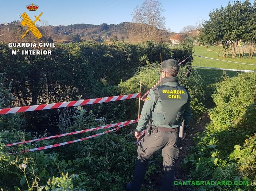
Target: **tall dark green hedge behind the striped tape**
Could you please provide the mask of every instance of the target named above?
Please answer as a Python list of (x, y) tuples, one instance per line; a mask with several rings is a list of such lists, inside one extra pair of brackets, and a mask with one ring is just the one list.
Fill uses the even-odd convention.
[(145, 42), (138, 45), (96, 42), (58, 44), (52, 55), (12, 55), (14, 48), (0, 44), (0, 71), (12, 81), (13, 94), (19, 106), (44, 104), (104, 95), (104, 84), (117, 85), (127, 80), (136, 68), (149, 62), (181, 59), (189, 56), (192, 46), (175, 48), (165, 43)]

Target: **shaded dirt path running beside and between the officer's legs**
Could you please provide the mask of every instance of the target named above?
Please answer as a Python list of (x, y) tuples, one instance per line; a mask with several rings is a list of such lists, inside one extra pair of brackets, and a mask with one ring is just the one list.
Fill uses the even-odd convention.
[[(186, 133), (186, 138), (182, 140), (182, 150), (180, 152), (180, 157), (176, 161), (175, 164), (175, 177), (174, 180), (189, 180), (187, 178), (187, 175), (189, 173), (189, 170), (181, 168), (181, 163), (183, 160), (190, 154), (189, 150), (191, 147), (194, 147), (195, 144), (192, 141), (192, 137), (197, 132), (202, 132), (205, 130), (205, 124), (210, 122), (210, 118), (207, 114), (207, 112), (202, 113), (201, 119), (199, 121), (193, 121), (193, 123), (190, 124), (190, 129)], [(162, 164), (159, 164), (161, 166)], [(159, 170), (158, 174), (155, 174), (154, 176), (150, 177), (152, 183), (151, 186), (148, 187), (148, 191), (159, 191), (161, 187), (161, 177), (163, 175), (163, 170)], [(175, 186), (175, 191), (187, 191), (191, 190), (189, 187), (182, 187), (182, 186)]]

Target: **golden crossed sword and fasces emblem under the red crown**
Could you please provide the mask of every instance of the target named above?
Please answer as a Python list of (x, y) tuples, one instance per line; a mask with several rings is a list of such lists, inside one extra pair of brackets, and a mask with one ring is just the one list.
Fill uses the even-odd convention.
[(28, 26), (28, 30), (23, 34), (22, 36), (22, 39), (24, 38), (24, 36), (28, 33), (28, 31), (31, 31), (35, 37), (37, 37), (38, 39), (40, 39), (43, 35), (40, 33), (40, 31), (38, 30), (38, 28), (35, 26), (35, 22), (36, 21), (41, 21), (39, 19), (39, 17), (41, 17), (41, 15), (43, 14), (43, 12), (40, 13), (40, 15), (37, 16), (34, 16), (35, 17), (35, 20), (34, 22), (32, 23), (32, 20), (29, 18), (29, 16), (27, 15), (27, 13), (23, 13), (22, 14), (22, 18), (23, 20), (21, 21), (21, 24), (23, 26)]

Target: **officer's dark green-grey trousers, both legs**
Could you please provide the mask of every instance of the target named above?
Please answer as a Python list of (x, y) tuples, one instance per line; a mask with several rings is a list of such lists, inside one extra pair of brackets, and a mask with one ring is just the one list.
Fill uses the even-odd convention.
[(144, 136), (138, 146), (138, 157), (131, 183), (131, 191), (139, 191), (144, 179), (150, 157), (159, 149), (163, 156), (163, 178), (160, 191), (172, 191), (174, 164), (179, 157), (180, 138), (176, 132), (158, 131)]

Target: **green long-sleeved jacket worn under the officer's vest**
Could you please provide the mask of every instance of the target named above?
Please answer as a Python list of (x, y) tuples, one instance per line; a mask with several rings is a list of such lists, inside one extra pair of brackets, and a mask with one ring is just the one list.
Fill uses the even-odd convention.
[[(177, 77), (166, 77), (166, 78), (162, 78), (161, 81), (162, 81), (162, 87), (170, 86), (172, 88), (175, 88), (175, 87), (179, 88), (180, 87), (180, 88), (184, 89), (184, 87), (180, 86), (180, 84), (178, 83), (178, 78)], [(179, 87), (177, 87), (177, 86), (179, 86)], [(148, 123), (148, 120), (150, 118), (152, 118), (152, 113), (155, 114), (155, 112), (153, 112), (153, 111), (154, 111), (154, 108), (155, 108), (156, 104), (158, 104), (158, 105), (161, 104), (161, 102), (157, 103), (158, 100), (159, 100), (159, 92), (158, 92), (159, 88), (161, 88), (161, 87), (158, 87), (158, 88), (155, 87), (149, 92), (149, 94), (148, 94), (148, 96), (145, 100), (145, 103), (143, 105), (143, 108), (142, 108), (141, 117), (139, 119), (138, 126), (136, 128), (137, 132), (141, 132), (143, 129), (146, 128), (146, 124)], [(187, 103), (183, 106), (183, 107), (185, 107), (184, 113), (183, 113), (183, 119), (185, 119), (185, 126), (189, 125), (189, 120), (192, 116), (191, 107), (190, 107), (190, 98), (191, 97), (190, 97), (188, 91), (186, 91), (186, 93), (187, 93), (187, 96), (188, 96), (187, 97)], [(169, 103), (169, 102), (165, 102), (165, 103)], [(175, 112), (172, 109), (172, 104), (173, 104), (173, 102), (171, 103), (171, 101), (170, 101), (170, 105), (168, 105), (168, 107), (170, 108), (170, 109), (168, 109), (168, 112), (170, 112), (170, 113)], [(179, 104), (179, 102), (177, 102), (177, 104)], [(166, 127), (166, 128), (170, 128), (170, 129), (180, 127), (180, 125), (181, 125), (181, 124), (165, 125), (165, 124), (159, 124), (159, 123), (160, 122), (157, 123), (154, 120), (152, 122), (152, 124), (154, 126)]]

